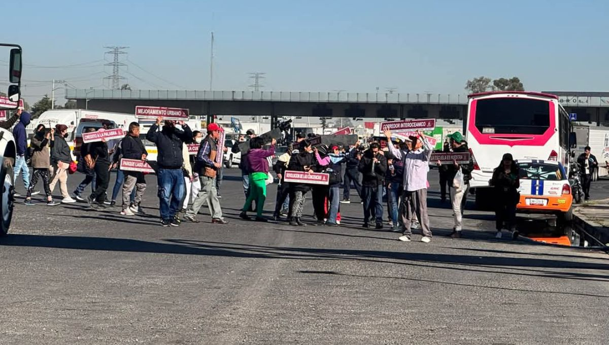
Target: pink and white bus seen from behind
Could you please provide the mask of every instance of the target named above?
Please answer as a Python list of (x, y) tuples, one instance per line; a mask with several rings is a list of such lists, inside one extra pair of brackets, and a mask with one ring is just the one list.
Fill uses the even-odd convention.
[(514, 159), (558, 161), (569, 171), (576, 139), (557, 96), (501, 91), (471, 94), (468, 99), (463, 126), (474, 159), (470, 186), (477, 206), (488, 204), (488, 181), (504, 153), (512, 153)]

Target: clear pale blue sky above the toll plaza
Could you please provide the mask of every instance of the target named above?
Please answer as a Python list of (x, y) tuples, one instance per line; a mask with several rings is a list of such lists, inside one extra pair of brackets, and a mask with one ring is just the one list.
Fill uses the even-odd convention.
[[(129, 46), (121, 74), (134, 89), (208, 89), (211, 30), (214, 89), (248, 89), (247, 73), (255, 71), (266, 72), (269, 91), (395, 87), (457, 94), (480, 75), (518, 76), (536, 91), (609, 89), (609, 1), (19, 0), (10, 6), (23, 16), (0, 41), (23, 46), (30, 102), (50, 93), (52, 78), (102, 88), (111, 72), (103, 66), (103, 46), (114, 45)], [(73, 64), (82, 65), (27, 66)]]

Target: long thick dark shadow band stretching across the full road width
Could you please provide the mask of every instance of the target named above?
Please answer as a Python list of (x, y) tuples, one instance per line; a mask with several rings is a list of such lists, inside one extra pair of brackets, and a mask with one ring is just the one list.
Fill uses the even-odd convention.
[[(8, 235), (2, 239), (0, 246), (31, 246), (39, 248), (186, 254), (259, 259), (354, 260), (371, 263), (391, 263), (424, 268), (437, 268), (442, 270), (609, 282), (609, 275), (606, 273), (591, 274), (581, 271), (565, 271), (607, 271), (609, 270), (609, 264), (530, 257), (479, 256), (479, 254), (454, 255), (359, 249), (294, 248), (183, 239), (166, 239), (164, 242), (147, 242), (142, 240), (104, 237), (25, 234)], [(410, 244), (410, 249), (412, 250), (413, 248), (417, 248), (415, 243)], [(542, 268), (542, 270), (539, 268)], [(543, 270), (543, 268), (551, 270)]]

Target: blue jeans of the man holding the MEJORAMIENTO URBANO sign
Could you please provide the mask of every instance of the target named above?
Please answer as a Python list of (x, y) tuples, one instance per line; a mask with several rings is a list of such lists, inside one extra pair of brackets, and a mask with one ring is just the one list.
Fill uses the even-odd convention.
[(171, 220), (177, 214), (186, 192), (184, 174), (181, 169), (159, 168), (157, 184), (161, 219)]

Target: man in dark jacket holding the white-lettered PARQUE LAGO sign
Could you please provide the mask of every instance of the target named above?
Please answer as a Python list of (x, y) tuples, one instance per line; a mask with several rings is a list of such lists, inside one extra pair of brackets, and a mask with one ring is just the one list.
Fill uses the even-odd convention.
[[(146, 160), (148, 152), (141, 139), (139, 139), (139, 124), (132, 122), (129, 124), (129, 132), (121, 141), (122, 158), (125, 159), (141, 159)], [(139, 204), (142, 201), (142, 196), (146, 190), (146, 179), (143, 172), (125, 171), (125, 180), (122, 185), (122, 215), (134, 215), (133, 212), (141, 212)], [(135, 199), (130, 204), (131, 193), (135, 186)]]

